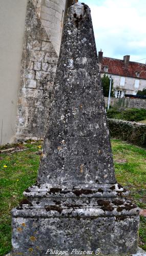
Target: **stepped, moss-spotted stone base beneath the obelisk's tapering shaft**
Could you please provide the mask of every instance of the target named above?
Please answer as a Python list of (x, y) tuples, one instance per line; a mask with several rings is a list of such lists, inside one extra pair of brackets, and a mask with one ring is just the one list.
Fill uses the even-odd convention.
[(118, 184), (61, 187), (43, 184), (25, 192), (28, 199), (12, 211), (12, 255), (46, 255), (50, 248), (67, 256), (77, 255), (73, 249), (137, 252), (139, 208), (122, 198), (126, 190)]

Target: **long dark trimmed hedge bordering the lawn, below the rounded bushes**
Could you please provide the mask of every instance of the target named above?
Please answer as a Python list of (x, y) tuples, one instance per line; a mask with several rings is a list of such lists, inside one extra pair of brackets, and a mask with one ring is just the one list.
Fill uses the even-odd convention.
[(118, 119), (108, 119), (110, 136), (146, 147), (146, 125)]

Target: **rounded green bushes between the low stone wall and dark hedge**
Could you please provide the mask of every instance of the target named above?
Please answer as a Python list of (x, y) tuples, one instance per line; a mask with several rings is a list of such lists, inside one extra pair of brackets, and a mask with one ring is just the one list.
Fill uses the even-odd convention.
[(119, 110), (111, 107), (107, 111), (108, 118), (122, 119), (126, 121), (138, 122), (146, 119), (146, 109), (128, 108), (126, 110)]

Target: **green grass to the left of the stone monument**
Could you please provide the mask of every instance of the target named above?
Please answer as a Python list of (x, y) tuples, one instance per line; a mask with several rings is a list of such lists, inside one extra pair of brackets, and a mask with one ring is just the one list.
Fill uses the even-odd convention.
[(36, 182), (39, 145), (26, 144), (26, 151), (0, 154), (0, 255), (11, 250), (11, 209), (23, 199), (23, 191)]

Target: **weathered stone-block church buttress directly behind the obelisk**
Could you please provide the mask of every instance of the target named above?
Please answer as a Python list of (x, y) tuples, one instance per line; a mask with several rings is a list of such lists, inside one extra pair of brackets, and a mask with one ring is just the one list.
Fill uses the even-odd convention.
[(45, 134), (61, 42), (65, 0), (29, 0), (18, 92), (16, 139)]

